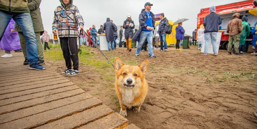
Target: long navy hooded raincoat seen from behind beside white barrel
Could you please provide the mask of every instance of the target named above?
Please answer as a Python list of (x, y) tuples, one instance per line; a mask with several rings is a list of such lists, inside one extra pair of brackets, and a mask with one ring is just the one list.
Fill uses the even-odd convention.
[(105, 31), (107, 42), (113, 41), (113, 33), (114, 31), (117, 31), (117, 27), (115, 28), (114, 24), (110, 21), (110, 18), (107, 18), (106, 23), (103, 24), (103, 30)]

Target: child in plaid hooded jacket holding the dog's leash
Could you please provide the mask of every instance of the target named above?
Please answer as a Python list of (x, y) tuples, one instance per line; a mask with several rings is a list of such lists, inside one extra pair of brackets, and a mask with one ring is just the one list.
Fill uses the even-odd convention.
[[(67, 69), (61, 73), (61, 75), (74, 76), (79, 74), (78, 71), (78, 46), (77, 37), (78, 30), (75, 28), (80, 27), (83, 29), (84, 21), (78, 11), (78, 7), (72, 5), (72, 0), (60, 0), (59, 5), (54, 11), (53, 19), (53, 34), (57, 34), (60, 38), (61, 48), (65, 59)], [(70, 29), (67, 22), (70, 24)], [(73, 29), (74, 28), (74, 29)], [(58, 30), (58, 32), (57, 32)], [(70, 31), (70, 32), (69, 32)], [(68, 46), (69, 40), (69, 46)], [(72, 69), (73, 62), (73, 69)]]

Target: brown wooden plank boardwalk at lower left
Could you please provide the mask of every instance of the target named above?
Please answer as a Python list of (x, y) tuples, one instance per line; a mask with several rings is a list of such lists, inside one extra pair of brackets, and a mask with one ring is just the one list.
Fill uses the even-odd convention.
[(29, 70), (22, 52), (11, 52), (0, 58), (1, 129), (137, 128), (47, 65)]

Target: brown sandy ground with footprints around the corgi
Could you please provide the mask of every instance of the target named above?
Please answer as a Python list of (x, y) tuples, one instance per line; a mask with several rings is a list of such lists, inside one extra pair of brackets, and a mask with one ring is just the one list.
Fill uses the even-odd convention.
[[(118, 56), (133, 65), (143, 60), (150, 62), (145, 76), (148, 94), (139, 113), (128, 111), (129, 124), (151, 129), (257, 128), (257, 119), (252, 115), (257, 110), (257, 88), (254, 87), (257, 79), (242, 79), (250, 77), (246, 73), (252, 70), (257, 56), (250, 53), (228, 55), (221, 50), (216, 57), (211, 54), (206, 57), (197, 47), (190, 46), (183, 51), (175, 51), (175, 48), (168, 48), (168, 52), (154, 50), (157, 58), (148, 58), (148, 52), (141, 52), (140, 57), (136, 57), (135, 50), (128, 52), (125, 48), (117, 48), (107, 55), (112, 59)], [(90, 51), (97, 59), (105, 60), (95, 48)], [(103, 53), (107, 54), (106, 51)], [(65, 69), (60, 68), (65, 66), (64, 61), (46, 62), (59, 73)], [(79, 75), (64, 77), (119, 112), (114, 91), (115, 71), (103, 69), (108, 69), (104, 75), (95, 72), (94, 67), (80, 63)], [(257, 66), (254, 73), (257, 73), (256, 69)], [(244, 71), (245, 75), (239, 79), (233, 76)]]

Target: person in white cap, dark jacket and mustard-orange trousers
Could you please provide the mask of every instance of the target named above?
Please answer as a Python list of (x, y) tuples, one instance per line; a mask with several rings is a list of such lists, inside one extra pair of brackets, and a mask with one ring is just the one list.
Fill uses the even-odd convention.
[(127, 19), (123, 23), (123, 28), (125, 29), (125, 39), (127, 50), (131, 51), (131, 39), (133, 37), (133, 29), (135, 28), (134, 21), (131, 20), (131, 15), (127, 15)]

